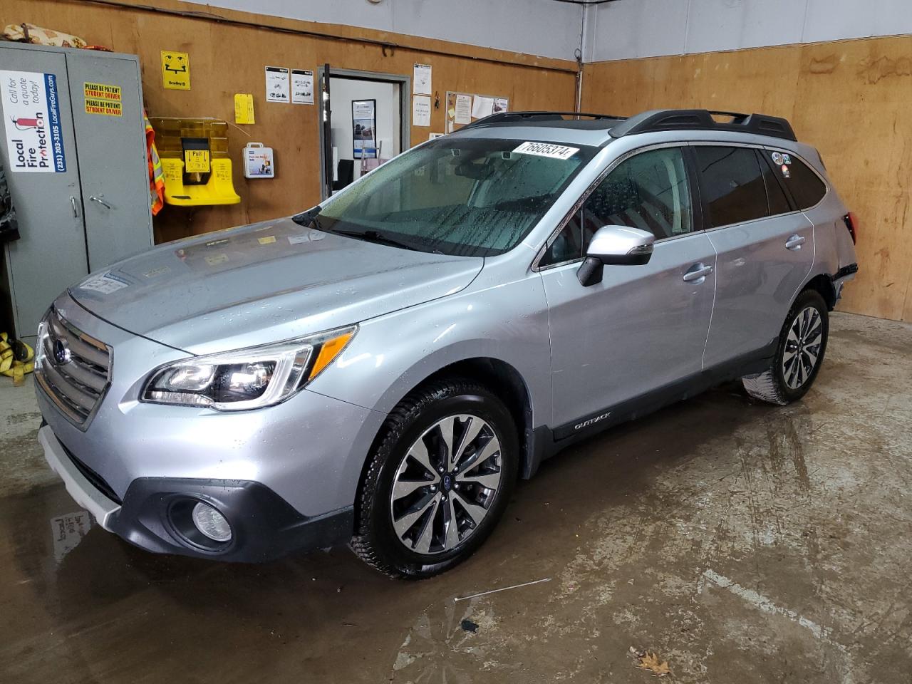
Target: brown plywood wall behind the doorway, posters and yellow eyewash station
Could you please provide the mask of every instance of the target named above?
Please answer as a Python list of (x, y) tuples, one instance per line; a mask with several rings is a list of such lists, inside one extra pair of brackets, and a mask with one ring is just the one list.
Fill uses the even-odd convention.
[[(155, 5), (205, 14), (201, 13), (200, 5), (176, 0), (159, 0)], [(447, 90), (507, 97), (510, 109), (573, 109), (573, 62), (350, 26), (206, 9), (212, 16), (228, 18), (234, 23), (205, 16), (187, 18), (140, 8), (67, 0), (4, 0), (0, 5), (0, 25), (28, 22), (47, 26), (83, 37), (89, 44), (139, 55), (143, 94), (150, 116), (212, 116), (233, 122), (234, 93), (254, 94), (256, 123), (242, 127), (244, 132), (229, 127), (234, 188), (242, 197), (241, 204), (193, 210), (166, 206), (155, 221), (160, 242), (287, 215), (319, 201), (319, 108), (266, 103), (264, 67), (267, 65), (311, 69), (316, 73), (317, 67), (328, 62), (331, 67), (411, 76), (414, 63), (430, 64), (431, 86), (440, 92), (441, 105), (440, 109), (431, 110), (430, 128), (412, 128), (412, 144), (427, 140), (431, 131), (444, 130)], [(237, 22), (272, 28), (238, 26)], [(351, 39), (303, 36), (282, 29), (332, 33)], [(384, 49), (359, 38), (389, 41), (400, 47)], [(191, 90), (162, 88), (161, 50), (190, 54)], [(452, 53), (452, 56), (429, 51)], [(244, 179), (241, 150), (249, 140), (274, 148), (274, 180)]]

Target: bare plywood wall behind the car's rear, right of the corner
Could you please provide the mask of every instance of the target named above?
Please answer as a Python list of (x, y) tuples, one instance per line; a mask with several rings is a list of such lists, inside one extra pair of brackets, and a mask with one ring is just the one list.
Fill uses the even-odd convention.
[(912, 36), (586, 65), (583, 111), (659, 108), (792, 121), (861, 223), (840, 308), (912, 321)]

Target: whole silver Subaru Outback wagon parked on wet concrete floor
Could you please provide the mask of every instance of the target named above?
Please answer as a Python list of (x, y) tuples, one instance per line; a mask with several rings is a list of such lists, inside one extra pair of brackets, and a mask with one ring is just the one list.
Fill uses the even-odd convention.
[(347, 543), (426, 577), (574, 440), (733, 378), (801, 398), (854, 243), (784, 119), (495, 114), (69, 288), (39, 329), (38, 437), (150, 551)]

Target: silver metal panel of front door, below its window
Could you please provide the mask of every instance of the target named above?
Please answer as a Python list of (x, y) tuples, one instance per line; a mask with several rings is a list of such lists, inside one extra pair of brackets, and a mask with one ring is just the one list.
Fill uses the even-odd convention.
[[(554, 426), (700, 373), (715, 261), (700, 232), (659, 241), (648, 264), (606, 266), (589, 287), (576, 277), (578, 263), (542, 272)], [(707, 272), (685, 280), (695, 267)]]

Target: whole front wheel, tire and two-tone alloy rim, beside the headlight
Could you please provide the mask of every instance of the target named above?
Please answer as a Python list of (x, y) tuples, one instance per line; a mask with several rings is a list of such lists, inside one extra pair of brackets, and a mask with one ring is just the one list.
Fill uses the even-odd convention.
[(490, 390), (463, 378), (415, 390), (368, 458), (352, 550), (395, 577), (461, 563), (503, 514), (518, 455), (513, 417)]

